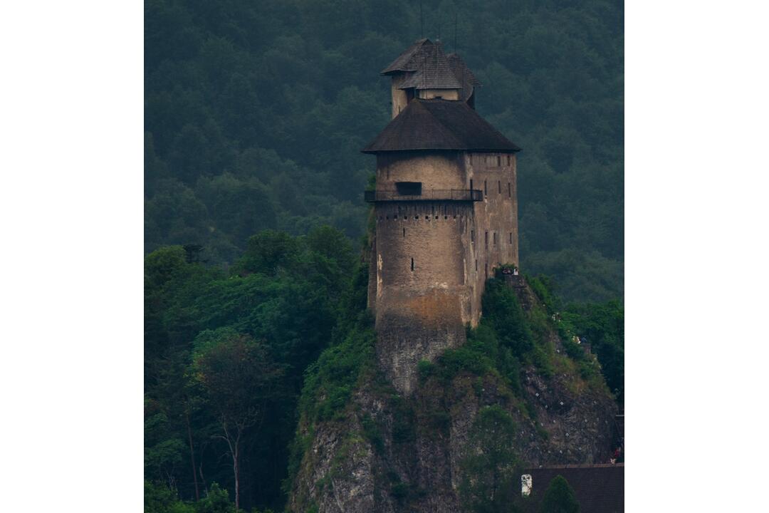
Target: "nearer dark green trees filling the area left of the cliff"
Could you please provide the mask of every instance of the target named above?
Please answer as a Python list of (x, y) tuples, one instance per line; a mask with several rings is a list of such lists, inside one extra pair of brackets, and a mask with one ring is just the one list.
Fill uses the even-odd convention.
[[(215, 481), (240, 508), (281, 510), (306, 369), (321, 368), (325, 386), (348, 378), (357, 364), (345, 358), (358, 357), (350, 349), (318, 360), (324, 348), (370, 351), (371, 332), (348, 329), (371, 324), (358, 291), (365, 266), (328, 227), (301, 237), (260, 232), (230, 271), (199, 257), (198, 248), (171, 246), (145, 258), (145, 478), (199, 498), (196, 508)], [(345, 397), (332, 390), (318, 415)]]

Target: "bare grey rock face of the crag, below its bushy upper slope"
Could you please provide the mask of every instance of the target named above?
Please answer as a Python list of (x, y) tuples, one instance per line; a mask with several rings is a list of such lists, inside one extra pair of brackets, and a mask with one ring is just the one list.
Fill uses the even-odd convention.
[[(524, 310), (538, 308), (528, 287), (517, 295)], [(517, 391), (494, 372), (423, 373), (410, 395), (398, 393), (384, 374), (368, 375), (341, 419), (301, 425), (311, 443), (288, 511), (462, 511), (460, 462), (476, 415), (488, 405), (510, 413), (516, 451), (530, 467), (607, 462), (614, 399), (600, 375), (581, 377), (554, 330), (547, 336), (551, 371), (521, 369)]]

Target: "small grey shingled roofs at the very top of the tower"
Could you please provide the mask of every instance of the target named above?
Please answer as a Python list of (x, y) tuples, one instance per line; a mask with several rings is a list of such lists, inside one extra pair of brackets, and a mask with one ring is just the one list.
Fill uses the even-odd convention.
[[(456, 54), (446, 55), (440, 42), (419, 39), (398, 55), (382, 75), (406, 73), (401, 89), (468, 89), (481, 85)], [(469, 93), (468, 93), (469, 95)]]

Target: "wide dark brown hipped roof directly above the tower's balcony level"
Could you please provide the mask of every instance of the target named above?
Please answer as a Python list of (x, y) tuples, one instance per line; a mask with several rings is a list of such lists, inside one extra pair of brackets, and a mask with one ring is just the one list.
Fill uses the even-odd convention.
[(414, 98), (362, 152), (412, 150), (519, 152), (521, 148), (465, 102)]

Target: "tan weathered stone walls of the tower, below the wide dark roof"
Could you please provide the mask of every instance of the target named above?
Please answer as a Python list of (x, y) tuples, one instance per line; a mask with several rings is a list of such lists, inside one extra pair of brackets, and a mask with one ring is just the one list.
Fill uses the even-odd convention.
[(484, 192), (482, 202), (375, 204), (368, 302), (376, 316), (377, 354), (395, 387), (408, 393), (420, 360), (461, 345), (464, 325), (478, 325), (494, 267), (518, 264), (515, 157), (401, 152), (378, 155), (377, 162), (378, 191), (421, 182), (423, 193)]

